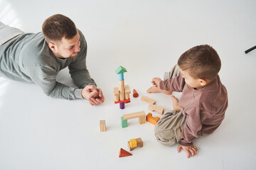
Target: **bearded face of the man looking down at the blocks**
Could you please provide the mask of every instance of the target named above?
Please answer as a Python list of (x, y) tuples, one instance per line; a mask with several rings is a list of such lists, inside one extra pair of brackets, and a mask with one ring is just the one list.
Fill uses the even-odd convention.
[(55, 51), (53, 53), (56, 57), (60, 58), (75, 58), (78, 52), (80, 52), (79, 33), (70, 40), (63, 37), (60, 41), (55, 43)]

